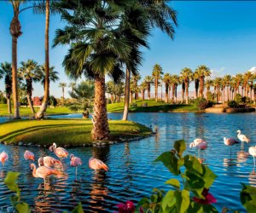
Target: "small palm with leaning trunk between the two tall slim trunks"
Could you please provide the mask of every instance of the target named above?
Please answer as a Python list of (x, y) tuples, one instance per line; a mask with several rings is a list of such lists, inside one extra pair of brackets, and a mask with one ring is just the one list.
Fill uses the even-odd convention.
[(29, 107), (31, 108), (32, 113), (35, 114), (36, 112), (32, 104), (32, 83), (38, 82), (40, 80), (39, 66), (35, 60), (27, 60), (26, 62), (21, 61), (20, 65), (20, 77), (26, 81), (27, 102)]

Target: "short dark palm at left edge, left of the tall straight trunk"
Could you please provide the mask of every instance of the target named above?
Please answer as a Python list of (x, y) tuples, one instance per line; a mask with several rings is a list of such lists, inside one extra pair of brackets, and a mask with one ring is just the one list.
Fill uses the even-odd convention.
[(12, 107), (10, 102), (10, 96), (12, 95), (12, 65), (8, 62), (1, 63), (0, 77), (4, 77), (5, 83), (5, 95), (7, 99), (7, 107), (9, 114), (12, 113)]

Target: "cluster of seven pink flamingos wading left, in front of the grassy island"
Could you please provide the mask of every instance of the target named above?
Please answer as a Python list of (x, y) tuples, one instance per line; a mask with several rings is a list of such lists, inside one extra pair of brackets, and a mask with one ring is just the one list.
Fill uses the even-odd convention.
[[(57, 160), (50, 156), (45, 156), (43, 158), (38, 158), (38, 168), (36, 164), (30, 164), (30, 168), (32, 170), (32, 176), (34, 177), (40, 177), (44, 178), (44, 187), (45, 187), (45, 179), (48, 176), (51, 175), (61, 175), (61, 171), (55, 170), (55, 165), (62, 164), (62, 158), (67, 158), (68, 153), (65, 148), (57, 147), (55, 143), (53, 143), (52, 146), (49, 147), (49, 150), (51, 152), (54, 152), (55, 155), (60, 158), (60, 160)], [(8, 160), (9, 156), (8, 153), (5, 153), (4, 151), (0, 154), (0, 160), (4, 166), (4, 163), (6, 160)], [(34, 161), (35, 156), (34, 153), (26, 150), (24, 153), (24, 158), (29, 161)], [(77, 169), (78, 166), (82, 164), (82, 160), (79, 157), (74, 156), (73, 154), (70, 154), (70, 165), (76, 168), (76, 176), (77, 176)], [(92, 170), (106, 170), (108, 171), (108, 166), (104, 164), (100, 159), (97, 158), (90, 158), (89, 159), (89, 167)]]

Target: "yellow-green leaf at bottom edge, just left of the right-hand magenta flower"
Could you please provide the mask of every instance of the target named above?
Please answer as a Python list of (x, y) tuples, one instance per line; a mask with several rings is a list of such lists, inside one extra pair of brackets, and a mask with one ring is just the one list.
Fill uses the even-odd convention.
[(182, 191), (175, 191), (177, 212), (183, 213), (189, 208), (189, 191), (183, 189)]

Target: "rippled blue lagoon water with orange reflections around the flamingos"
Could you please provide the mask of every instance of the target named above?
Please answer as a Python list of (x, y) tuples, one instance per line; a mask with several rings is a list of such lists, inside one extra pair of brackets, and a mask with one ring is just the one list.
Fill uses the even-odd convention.
[[(109, 113), (108, 118), (119, 119), (120, 113)], [(81, 118), (79, 114), (53, 116), (53, 118)], [(149, 196), (153, 187), (168, 190), (164, 183), (172, 174), (159, 162), (154, 163), (160, 153), (171, 150), (173, 142), (184, 139), (187, 145), (200, 137), (207, 141), (204, 164), (218, 176), (210, 193), (217, 199), (214, 204), (220, 211), (223, 206), (232, 210), (246, 210), (240, 202), (241, 182), (256, 187), (256, 171), (253, 172), (253, 157), (248, 147), (256, 146), (256, 113), (131, 113), (129, 118), (147, 126), (158, 127), (158, 134), (140, 141), (113, 144), (110, 147), (67, 148), (82, 159), (79, 175), (75, 181), (75, 169), (65, 159), (63, 176), (51, 176), (44, 191), (44, 180), (32, 177), (29, 162), (23, 158), (26, 149), (35, 153), (36, 158), (54, 156), (48, 148), (17, 147), (0, 145), (9, 153), (5, 167), (0, 165), (0, 210), (10, 205), (9, 192), (3, 179), (9, 170), (20, 171), (19, 186), (21, 199), (32, 206), (34, 212), (62, 212), (73, 210), (82, 202), (86, 212), (113, 212), (116, 204), (132, 200), (137, 203)], [(0, 121), (1, 122), (1, 121)], [(3, 122), (3, 121), (2, 121)], [(241, 150), (240, 145), (224, 146), (223, 137), (236, 138), (236, 130), (248, 135), (249, 145)], [(53, 141), (54, 142), (54, 141)], [(197, 155), (193, 148), (185, 152)], [(108, 172), (97, 174), (88, 167), (91, 156), (108, 164)]]

